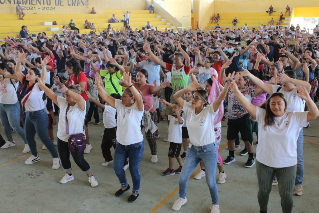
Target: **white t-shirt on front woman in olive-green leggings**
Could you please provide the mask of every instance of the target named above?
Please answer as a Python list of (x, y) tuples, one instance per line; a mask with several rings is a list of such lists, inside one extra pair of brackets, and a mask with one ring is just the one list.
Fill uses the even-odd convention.
[(297, 164), (297, 139), (302, 127), (307, 126), (308, 112), (285, 112), (275, 118), (273, 126), (264, 128), (266, 110), (256, 108), (258, 146), (256, 159), (270, 167), (283, 168)]

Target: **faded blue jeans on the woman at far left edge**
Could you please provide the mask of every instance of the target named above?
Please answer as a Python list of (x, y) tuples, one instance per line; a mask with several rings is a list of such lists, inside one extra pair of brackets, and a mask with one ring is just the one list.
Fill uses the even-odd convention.
[(25, 144), (26, 135), (23, 128), (20, 126), (20, 105), (19, 102), (13, 104), (0, 103), (0, 121), (4, 128), (5, 136), (8, 141), (13, 141), (12, 129), (14, 129), (19, 136), (22, 138)]

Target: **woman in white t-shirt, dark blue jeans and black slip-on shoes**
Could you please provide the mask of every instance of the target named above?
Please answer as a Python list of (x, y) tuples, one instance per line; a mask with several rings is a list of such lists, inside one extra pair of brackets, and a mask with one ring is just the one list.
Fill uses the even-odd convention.
[(115, 193), (115, 196), (121, 196), (130, 189), (123, 169), (124, 161), (129, 157), (133, 190), (128, 202), (135, 202), (139, 196), (141, 183), (139, 166), (144, 152), (144, 141), (140, 127), (144, 103), (142, 95), (131, 82), (131, 74), (124, 72), (122, 82), (130, 86), (124, 89), (121, 100), (118, 100), (108, 95), (104, 89), (100, 74), (95, 74), (95, 84), (98, 87), (100, 96), (108, 105), (117, 110), (116, 148), (113, 164), (115, 174), (121, 183), (121, 188)]

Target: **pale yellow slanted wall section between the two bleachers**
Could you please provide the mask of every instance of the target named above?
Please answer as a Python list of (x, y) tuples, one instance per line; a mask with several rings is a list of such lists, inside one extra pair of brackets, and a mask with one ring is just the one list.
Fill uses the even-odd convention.
[[(191, 1), (190, 0), (164, 0), (164, 9), (172, 14), (183, 27), (191, 26)], [(156, 12), (156, 8), (154, 8)]]

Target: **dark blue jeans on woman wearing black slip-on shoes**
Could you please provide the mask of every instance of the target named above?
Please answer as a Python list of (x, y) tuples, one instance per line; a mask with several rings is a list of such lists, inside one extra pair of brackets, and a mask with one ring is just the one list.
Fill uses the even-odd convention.
[(127, 157), (129, 157), (130, 174), (132, 176), (133, 190), (135, 194), (138, 194), (141, 186), (141, 173), (139, 166), (141, 164), (142, 156), (144, 152), (144, 141), (134, 143), (128, 146), (124, 146), (119, 142), (116, 142), (116, 148), (114, 153), (113, 166), (114, 171), (119, 179), (121, 186), (126, 187), (128, 185), (123, 165)]

